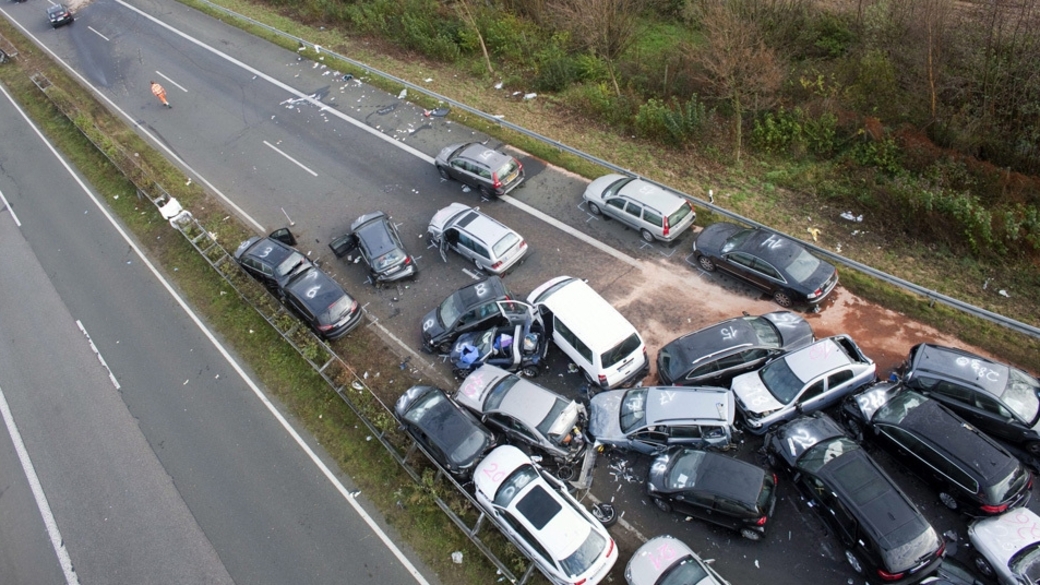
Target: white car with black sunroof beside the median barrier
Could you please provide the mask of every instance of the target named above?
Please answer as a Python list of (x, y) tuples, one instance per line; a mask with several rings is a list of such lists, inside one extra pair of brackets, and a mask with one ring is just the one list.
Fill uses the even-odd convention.
[(477, 505), (549, 582), (596, 585), (618, 561), (603, 525), (519, 449), (492, 451), (474, 468), (473, 483)]

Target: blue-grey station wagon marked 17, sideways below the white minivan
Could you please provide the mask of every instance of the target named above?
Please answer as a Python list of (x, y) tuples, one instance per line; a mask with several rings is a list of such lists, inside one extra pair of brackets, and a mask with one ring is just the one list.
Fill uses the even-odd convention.
[(651, 386), (610, 390), (589, 404), (596, 444), (652, 454), (673, 444), (725, 448), (736, 408), (726, 388)]

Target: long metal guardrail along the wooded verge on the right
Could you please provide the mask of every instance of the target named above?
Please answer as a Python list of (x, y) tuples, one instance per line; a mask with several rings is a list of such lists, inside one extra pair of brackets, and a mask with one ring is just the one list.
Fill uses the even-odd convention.
[[(267, 31), (269, 31), (269, 32), (271, 32), (274, 34), (277, 34), (277, 35), (280, 35), (282, 37), (295, 41), (302, 47), (310, 47), (312, 49), (315, 48), (315, 47), (318, 47), (320, 49), (320, 51), (323, 52), (323, 53), (326, 53), (326, 54), (332, 55), (333, 57), (335, 57), (337, 59), (340, 59), (343, 62), (347, 62), (347, 63), (349, 63), (349, 65), (352, 65), (354, 67), (357, 67), (359, 69), (362, 69), (362, 70), (370, 72), (370, 73), (373, 73), (375, 75), (379, 75), (380, 77), (383, 77), (384, 79), (388, 79), (390, 81), (393, 81), (394, 83), (397, 83), (397, 84), (400, 84), (400, 85), (402, 85), (405, 87), (408, 87), (408, 90), (410, 92), (418, 92), (418, 93), (421, 93), (421, 94), (423, 94), (425, 96), (434, 98), (436, 100), (442, 101), (442, 102), (444, 102), (446, 104), (450, 104), (451, 107), (453, 107), (456, 109), (460, 109), (460, 110), (466, 111), (467, 113), (470, 113), (470, 115), (472, 115), (474, 117), (480, 118), (480, 119), (485, 120), (486, 122), (489, 122), (489, 123), (492, 123), (492, 124), (497, 124), (499, 126), (509, 128), (510, 130), (513, 130), (514, 132), (523, 134), (523, 135), (525, 135), (527, 137), (537, 139), (537, 141), (542, 142), (542, 143), (547, 144), (547, 145), (551, 145), (552, 147), (554, 147), (556, 149), (560, 149), (560, 150), (562, 150), (564, 152), (573, 154), (574, 156), (583, 158), (583, 159), (589, 160), (591, 162), (595, 162), (596, 164), (599, 164), (599, 166), (601, 166), (601, 167), (603, 167), (605, 169), (608, 169), (608, 170), (610, 170), (610, 171), (613, 171), (615, 173), (621, 173), (621, 174), (625, 174), (625, 175), (629, 175), (629, 176), (633, 176), (633, 177), (639, 177), (639, 178), (641, 178), (641, 179), (643, 179), (645, 181), (648, 181), (648, 182), (653, 183), (653, 184), (655, 184), (657, 186), (660, 186), (661, 188), (666, 188), (666, 189), (669, 189), (669, 190), (672, 190), (672, 192), (675, 192), (675, 193), (679, 193), (680, 195), (682, 195), (686, 199), (688, 199), (688, 200), (697, 203), (697, 205), (699, 205), (701, 207), (704, 207), (704, 208), (707, 208), (707, 209), (710, 209), (712, 212), (718, 213), (720, 215), (723, 215), (725, 218), (728, 218), (730, 220), (734, 220), (734, 221), (740, 222), (743, 224), (747, 224), (747, 225), (751, 225), (751, 226), (757, 226), (757, 227), (760, 227), (760, 228), (772, 230), (772, 228), (770, 228), (766, 225), (760, 224), (758, 222), (755, 222), (754, 220), (750, 220), (750, 219), (745, 218), (743, 215), (733, 213), (732, 211), (729, 211), (729, 210), (724, 209), (722, 207), (718, 207), (718, 206), (716, 206), (713, 203), (711, 203), (709, 201), (704, 201), (702, 199), (699, 199), (697, 197), (691, 196), (691, 195), (682, 193), (682, 192), (676, 192), (675, 188), (670, 187), (670, 186), (665, 185), (665, 184), (661, 184), (661, 183), (658, 183), (657, 181), (654, 181), (653, 179), (649, 179), (647, 177), (643, 177), (639, 173), (634, 173), (634, 172), (632, 172), (632, 171), (630, 171), (628, 169), (625, 169), (625, 168), (622, 168), (622, 167), (618, 167), (617, 164), (614, 164), (612, 162), (603, 160), (602, 158), (593, 156), (591, 154), (588, 154), (586, 152), (577, 150), (577, 149), (575, 149), (573, 147), (567, 146), (564, 143), (561, 143), (558, 141), (552, 139), (552, 138), (550, 138), (548, 136), (543, 136), (542, 134), (539, 134), (538, 132), (534, 132), (531, 130), (528, 130), (528, 129), (526, 129), (526, 128), (524, 128), (522, 126), (518, 126), (518, 125), (513, 124), (513, 123), (511, 123), (511, 122), (509, 122), (506, 120), (502, 120), (500, 118), (496, 118), (496, 117), (494, 117), (492, 115), (489, 115), (487, 112), (484, 112), (484, 111), (480, 111), (480, 110), (475, 109), (473, 107), (470, 107), (470, 106), (468, 106), (466, 104), (457, 102), (457, 101), (452, 100), (451, 98), (448, 98), (447, 96), (442, 96), (440, 94), (437, 94), (436, 92), (431, 92), (428, 88), (423, 87), (421, 85), (416, 85), (416, 84), (414, 84), (414, 83), (412, 83), (410, 81), (407, 81), (405, 79), (401, 79), (401, 78), (396, 77), (394, 75), (391, 75), (389, 73), (380, 71), (378, 69), (373, 69), (372, 67), (370, 67), (370, 66), (368, 66), (366, 63), (354, 60), (354, 59), (352, 59), (349, 57), (346, 57), (344, 55), (340, 55), (340, 54), (338, 54), (338, 53), (336, 53), (334, 51), (328, 50), (324, 47), (320, 47), (318, 45), (315, 45), (314, 43), (311, 43), (311, 42), (306, 41), (304, 39), (301, 39), (298, 36), (289, 34), (287, 32), (279, 30), (279, 29), (277, 29), (275, 27), (271, 27), (271, 26), (269, 26), (267, 24), (259, 22), (257, 20), (251, 19), (250, 17), (246, 17), (246, 16), (243, 16), (243, 15), (239, 15), (238, 12), (235, 12), (235, 11), (229, 9), (229, 8), (226, 8), (224, 6), (214, 4), (210, 0), (200, 0), (200, 1), (203, 2), (203, 3), (205, 3), (205, 4), (207, 4), (207, 5), (209, 5), (209, 6), (211, 6), (215, 10), (219, 10), (219, 11), (228, 15), (231, 18), (235, 18), (235, 19), (248, 22), (248, 23), (250, 23), (253, 26), (256, 26), (256, 27), (259, 27), (259, 28), (263, 28), (263, 29), (265, 29), (265, 30), (267, 30)], [(773, 231), (776, 231), (776, 230), (773, 230)], [(847, 268), (859, 271), (859, 272), (861, 272), (863, 274), (866, 274), (866, 275), (872, 276), (874, 278), (877, 278), (877, 279), (879, 279), (879, 280), (881, 280), (883, 282), (886, 282), (886, 283), (891, 284), (893, 286), (898, 286), (900, 288), (903, 288), (903, 289), (908, 290), (910, 292), (913, 292), (915, 295), (919, 295), (919, 296), (921, 296), (921, 297), (924, 297), (926, 299), (929, 299), (932, 302), (940, 302), (940, 303), (942, 303), (942, 304), (944, 304), (946, 306), (950, 306), (950, 307), (952, 307), (954, 309), (957, 309), (957, 310), (960, 310), (962, 312), (968, 313), (968, 314), (970, 314), (972, 316), (976, 316), (978, 319), (983, 319), (983, 320), (989, 321), (991, 323), (995, 323), (997, 325), (1004, 326), (1004, 327), (1006, 327), (1008, 329), (1011, 329), (1011, 330), (1013, 330), (1015, 332), (1018, 332), (1018, 333), (1021, 333), (1023, 335), (1029, 335), (1029, 336), (1032, 336), (1032, 337), (1040, 338), (1040, 327), (1036, 327), (1036, 326), (1030, 325), (1028, 323), (1022, 323), (1020, 321), (1016, 321), (1016, 320), (1011, 319), (1009, 316), (995, 313), (993, 311), (984, 309), (982, 307), (977, 307), (974, 305), (971, 305), (970, 303), (966, 303), (964, 301), (961, 301), (959, 299), (955, 299), (955, 298), (950, 297), (947, 295), (943, 295), (943, 294), (938, 292), (936, 290), (932, 290), (930, 288), (926, 288), (924, 286), (919, 286), (917, 284), (914, 284), (912, 282), (909, 282), (909, 281), (904, 280), (902, 278), (899, 278), (896, 276), (892, 276), (890, 274), (884, 273), (884, 272), (879, 271), (877, 269), (870, 268), (870, 266), (868, 266), (866, 264), (863, 264), (862, 262), (858, 262), (856, 260), (853, 260), (853, 259), (850, 259), (850, 258), (846, 258), (844, 256), (840, 256), (840, 255), (835, 254), (835, 253), (833, 253), (833, 252), (831, 252), (829, 250), (826, 250), (824, 248), (820, 248), (820, 247), (817, 247), (817, 246), (815, 246), (815, 245), (813, 245), (811, 243), (804, 241), (804, 240), (800, 240), (800, 241), (804, 246), (806, 246), (807, 248), (813, 250), (814, 252), (816, 252), (816, 253), (818, 253), (818, 254), (821, 254), (823, 256), (826, 256), (828, 259), (830, 259), (833, 262), (836, 262), (836, 263), (842, 264), (842, 265), (844, 265)]]

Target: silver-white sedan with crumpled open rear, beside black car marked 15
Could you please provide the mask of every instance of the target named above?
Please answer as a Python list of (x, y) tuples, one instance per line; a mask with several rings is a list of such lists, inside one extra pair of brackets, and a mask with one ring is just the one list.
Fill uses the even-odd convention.
[(733, 379), (736, 407), (756, 435), (836, 404), (876, 378), (874, 360), (848, 335), (821, 339)]

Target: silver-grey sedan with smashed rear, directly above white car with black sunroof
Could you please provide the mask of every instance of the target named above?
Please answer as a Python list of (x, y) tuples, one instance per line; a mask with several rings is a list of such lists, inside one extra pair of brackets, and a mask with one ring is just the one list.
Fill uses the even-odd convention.
[(584, 406), (494, 365), (466, 377), (456, 402), (528, 452), (572, 465), (584, 453)]

